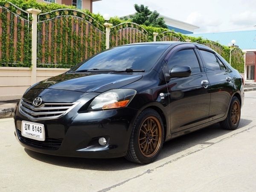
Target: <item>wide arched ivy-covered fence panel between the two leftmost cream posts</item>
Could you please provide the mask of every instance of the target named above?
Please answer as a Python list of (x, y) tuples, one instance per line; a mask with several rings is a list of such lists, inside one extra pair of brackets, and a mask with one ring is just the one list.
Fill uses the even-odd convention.
[(78, 10), (58, 9), (38, 15), (38, 67), (72, 67), (104, 50), (104, 30)]

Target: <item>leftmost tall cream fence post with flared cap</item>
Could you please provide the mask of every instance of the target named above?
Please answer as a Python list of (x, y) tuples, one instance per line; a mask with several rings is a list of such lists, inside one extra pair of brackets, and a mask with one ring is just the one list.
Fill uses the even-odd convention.
[(31, 85), (36, 83), (36, 64), (37, 64), (37, 18), (41, 13), (39, 9), (26, 9), (32, 15), (32, 55), (31, 55)]

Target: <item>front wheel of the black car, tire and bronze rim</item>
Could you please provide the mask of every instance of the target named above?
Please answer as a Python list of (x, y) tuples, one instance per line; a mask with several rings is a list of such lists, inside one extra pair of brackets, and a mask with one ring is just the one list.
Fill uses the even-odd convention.
[(135, 120), (125, 158), (134, 163), (151, 163), (159, 155), (163, 140), (161, 116), (153, 109), (146, 109)]

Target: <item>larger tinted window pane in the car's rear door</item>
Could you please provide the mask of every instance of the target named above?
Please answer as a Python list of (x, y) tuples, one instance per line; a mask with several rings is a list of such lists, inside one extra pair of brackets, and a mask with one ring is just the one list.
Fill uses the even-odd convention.
[(204, 62), (206, 64), (207, 72), (221, 70), (218, 60), (212, 52), (203, 51), (203, 50), (200, 50), (200, 52), (201, 52)]

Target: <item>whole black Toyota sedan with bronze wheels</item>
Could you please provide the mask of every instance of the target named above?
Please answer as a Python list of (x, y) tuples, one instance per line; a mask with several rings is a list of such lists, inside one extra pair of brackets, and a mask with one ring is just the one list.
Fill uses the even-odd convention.
[(24, 93), (20, 144), (45, 154), (150, 163), (165, 141), (220, 122), (239, 125), (243, 79), (212, 49), (131, 44), (103, 51)]

